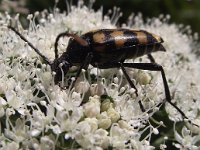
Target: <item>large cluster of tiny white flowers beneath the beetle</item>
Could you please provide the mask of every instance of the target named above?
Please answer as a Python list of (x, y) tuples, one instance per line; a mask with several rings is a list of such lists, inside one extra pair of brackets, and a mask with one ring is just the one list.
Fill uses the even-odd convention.
[[(29, 15), (29, 28), (23, 29), (18, 15), (0, 14), (0, 149), (154, 149), (152, 136), (160, 133), (162, 121), (153, 114), (165, 99), (160, 72), (127, 69), (138, 89), (138, 96), (124, 79), (120, 69), (100, 70), (89, 66), (83, 70), (75, 87), (64, 89), (54, 84), (50, 66), (7, 28), (11, 22), (42, 54), (54, 59), (56, 35), (68, 30), (82, 34), (99, 28), (116, 28), (118, 12), (103, 16), (79, 2), (69, 12), (43, 11)], [(117, 11), (117, 9), (114, 9)], [(118, 15), (117, 15), (118, 14)], [(39, 21), (36, 25), (35, 20)], [(194, 40), (190, 28), (168, 23), (169, 16), (148, 19), (131, 15), (124, 28), (144, 29), (161, 35), (167, 49), (155, 53), (156, 62), (164, 67), (172, 101), (195, 124), (200, 125), (200, 61), (192, 53)], [(186, 33), (187, 32), (187, 33)], [(59, 41), (65, 51), (68, 38)], [(133, 60), (128, 60), (133, 61)], [(146, 56), (134, 60), (149, 62)], [(71, 73), (73, 76), (73, 72)], [(87, 77), (86, 75), (87, 74)], [(95, 79), (93, 79), (95, 77)], [(73, 82), (73, 77), (67, 76)], [(70, 84), (70, 83), (69, 83)], [(138, 102), (142, 101), (145, 112)], [(182, 116), (166, 103), (166, 112), (173, 122)], [(186, 129), (181, 137), (175, 130), (175, 147), (198, 149), (198, 127)], [(189, 139), (189, 141), (187, 141)], [(165, 149), (163, 137), (160, 149)]]

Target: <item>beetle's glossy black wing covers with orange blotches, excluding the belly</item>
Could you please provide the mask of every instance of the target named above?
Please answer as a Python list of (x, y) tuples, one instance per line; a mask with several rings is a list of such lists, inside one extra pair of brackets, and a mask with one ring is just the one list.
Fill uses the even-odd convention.
[(101, 29), (88, 32), (83, 36), (89, 37), (93, 47), (111, 45), (114, 46), (113, 49), (163, 42), (161, 37), (144, 30)]

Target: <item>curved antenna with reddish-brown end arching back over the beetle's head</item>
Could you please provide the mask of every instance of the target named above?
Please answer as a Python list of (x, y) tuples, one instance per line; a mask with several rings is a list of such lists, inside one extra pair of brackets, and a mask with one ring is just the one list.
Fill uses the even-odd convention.
[(74, 38), (74, 40), (76, 40), (76, 42), (78, 42), (78, 43), (79, 43), (80, 45), (82, 45), (82, 46), (88, 46), (88, 42), (87, 42), (86, 40), (84, 40), (83, 38), (79, 37), (78, 35), (68, 33), (67, 31), (66, 31), (66, 32), (62, 32), (62, 33), (60, 33), (60, 34), (56, 37), (56, 40), (55, 40), (55, 44), (54, 44), (54, 48), (55, 48), (55, 59), (58, 58), (58, 41), (59, 41), (59, 39), (60, 39), (61, 37), (65, 37), (65, 36)]

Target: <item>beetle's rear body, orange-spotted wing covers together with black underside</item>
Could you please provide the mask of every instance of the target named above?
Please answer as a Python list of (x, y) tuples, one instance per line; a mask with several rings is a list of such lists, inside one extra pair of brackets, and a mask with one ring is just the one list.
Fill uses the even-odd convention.
[(117, 62), (154, 51), (165, 51), (163, 39), (144, 30), (101, 29), (82, 36), (90, 43), (96, 61)]

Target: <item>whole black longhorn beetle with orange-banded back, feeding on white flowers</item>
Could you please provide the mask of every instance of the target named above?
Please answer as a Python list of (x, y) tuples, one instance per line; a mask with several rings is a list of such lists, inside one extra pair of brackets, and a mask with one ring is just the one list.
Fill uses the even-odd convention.
[[(59, 84), (62, 80), (62, 74), (66, 74), (71, 66), (80, 66), (75, 81), (79, 77), (82, 69), (87, 69), (89, 64), (100, 69), (107, 68), (121, 68), (128, 83), (135, 89), (136, 96), (138, 96), (137, 88), (128, 76), (125, 67), (135, 68), (141, 70), (160, 71), (164, 84), (164, 91), (166, 101), (171, 104), (183, 118), (193, 124), (189, 118), (171, 102), (170, 90), (165, 77), (163, 67), (155, 63), (151, 53), (156, 51), (166, 51), (162, 43), (164, 42), (160, 36), (149, 33), (144, 30), (130, 30), (130, 29), (99, 29), (87, 32), (81, 36), (71, 34), (69, 32), (60, 33), (55, 40), (55, 59), (53, 62), (44, 56), (39, 49), (33, 46), (22, 34), (15, 28), (8, 26), (14, 31), (22, 40), (24, 40), (44, 62), (50, 65), (51, 70), (55, 72), (54, 82)], [(72, 37), (69, 41), (66, 51), (58, 56), (58, 41), (61, 37)], [(126, 59), (137, 58), (147, 55), (150, 63), (124, 63)], [(144, 112), (142, 102), (139, 101), (139, 106)], [(194, 124), (196, 125), (196, 124)], [(196, 125), (198, 126), (198, 125)]]

